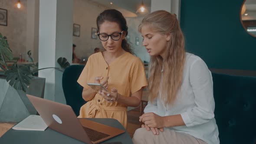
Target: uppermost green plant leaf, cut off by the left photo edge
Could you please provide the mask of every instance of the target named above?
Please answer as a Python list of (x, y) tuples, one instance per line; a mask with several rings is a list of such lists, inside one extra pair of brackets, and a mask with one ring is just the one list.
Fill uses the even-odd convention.
[(10, 61), (13, 59), (13, 52), (11, 51), (7, 38), (0, 33), (0, 61)]

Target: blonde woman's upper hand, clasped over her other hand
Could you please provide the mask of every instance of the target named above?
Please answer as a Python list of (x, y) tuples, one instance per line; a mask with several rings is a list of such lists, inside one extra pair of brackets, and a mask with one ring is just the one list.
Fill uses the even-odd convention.
[(141, 115), (139, 121), (142, 121), (150, 128), (164, 128), (164, 117), (156, 115), (153, 112)]

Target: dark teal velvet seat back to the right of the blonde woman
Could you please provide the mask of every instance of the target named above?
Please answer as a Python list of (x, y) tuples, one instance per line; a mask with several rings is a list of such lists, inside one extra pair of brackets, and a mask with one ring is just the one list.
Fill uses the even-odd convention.
[(220, 144), (256, 144), (256, 77), (212, 76)]

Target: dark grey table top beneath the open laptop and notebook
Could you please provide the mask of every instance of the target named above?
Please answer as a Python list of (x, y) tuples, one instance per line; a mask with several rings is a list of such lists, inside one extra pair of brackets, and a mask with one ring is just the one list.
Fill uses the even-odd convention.
[[(125, 130), (120, 122), (113, 118), (87, 118), (101, 124), (109, 125), (114, 128)], [(112, 137), (104, 143), (113, 143), (120, 141), (122, 144), (132, 144), (131, 137), (125, 130), (125, 133)], [(10, 129), (0, 138), (0, 144), (85, 144), (82, 141), (73, 139), (65, 134), (46, 128), (45, 131), (22, 131)]]

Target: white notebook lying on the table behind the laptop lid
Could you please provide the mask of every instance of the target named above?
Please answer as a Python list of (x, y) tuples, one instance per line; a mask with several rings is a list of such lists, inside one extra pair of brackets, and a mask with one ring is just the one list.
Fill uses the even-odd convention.
[(48, 126), (40, 115), (30, 115), (16, 124), (14, 130), (44, 131)]

